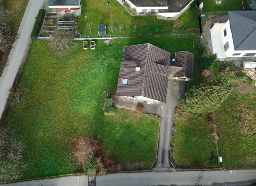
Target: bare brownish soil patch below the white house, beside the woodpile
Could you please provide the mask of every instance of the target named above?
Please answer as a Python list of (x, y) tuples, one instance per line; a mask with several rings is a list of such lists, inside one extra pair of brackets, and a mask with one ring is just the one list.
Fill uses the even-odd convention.
[(256, 91), (256, 87), (248, 81), (246, 75), (242, 74), (240, 68), (233, 65), (233, 62), (222, 62), (218, 68), (217, 75), (218, 79), (224, 76), (231, 76), (230, 78), (235, 79), (232, 88), (233, 93), (248, 95)]

